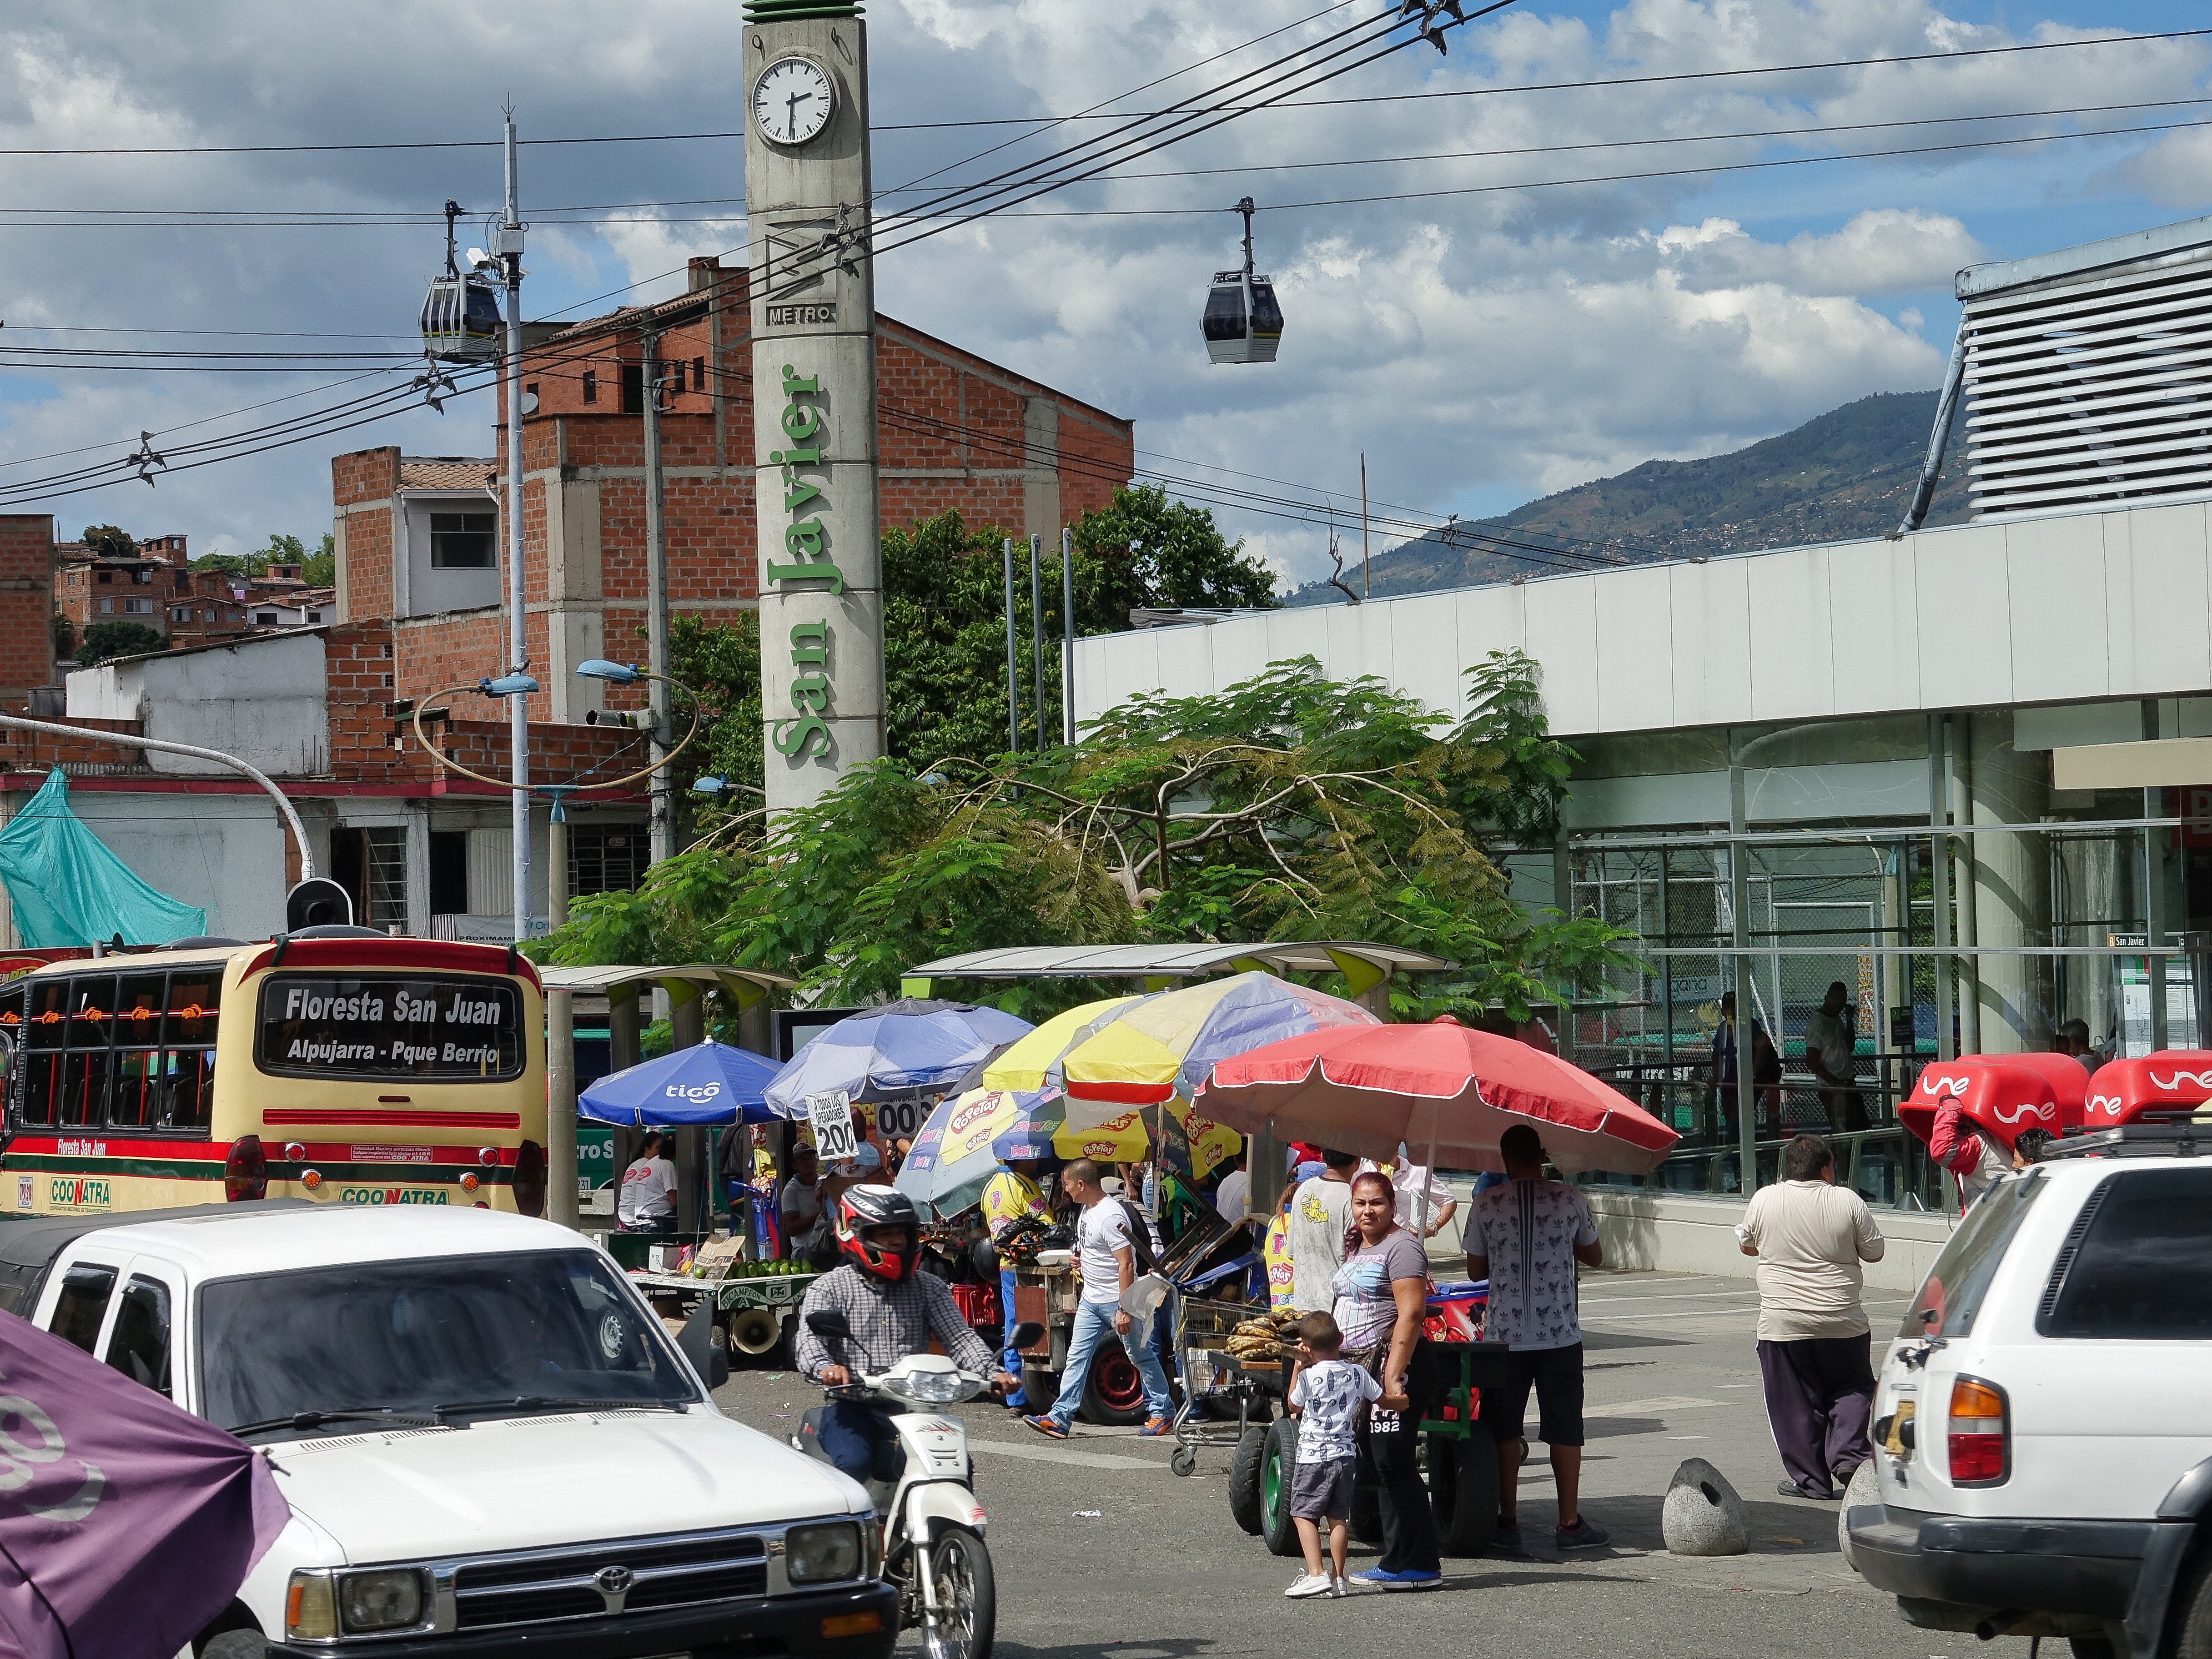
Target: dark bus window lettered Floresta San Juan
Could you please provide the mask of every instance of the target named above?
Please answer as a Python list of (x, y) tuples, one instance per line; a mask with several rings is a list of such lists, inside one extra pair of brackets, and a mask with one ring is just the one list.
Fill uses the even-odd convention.
[(254, 1064), (272, 1077), (507, 1082), (522, 1075), (520, 998), (462, 973), (270, 973)]

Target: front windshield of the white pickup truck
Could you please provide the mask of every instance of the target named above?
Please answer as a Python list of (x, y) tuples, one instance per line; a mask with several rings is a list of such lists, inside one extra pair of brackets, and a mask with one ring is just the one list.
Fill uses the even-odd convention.
[[(688, 1405), (690, 1376), (597, 1250), (219, 1279), (199, 1296), (206, 1416), (427, 1413), (460, 1400)], [(332, 1433), (361, 1422), (334, 1422)]]

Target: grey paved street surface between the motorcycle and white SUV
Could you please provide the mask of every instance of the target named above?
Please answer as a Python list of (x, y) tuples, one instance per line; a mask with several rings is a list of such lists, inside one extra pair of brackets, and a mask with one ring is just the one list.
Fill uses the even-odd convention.
[[(1584, 1279), (1590, 1444), (1584, 1511), (1613, 1531), (1597, 1555), (1559, 1559), (1546, 1526), (1551, 1475), (1524, 1482), (1528, 1555), (1444, 1562), (1444, 1588), (1285, 1601), (1287, 1562), (1228, 1517), (1228, 1453), (1177, 1480), (1168, 1447), (1133, 1431), (1033, 1436), (991, 1405), (964, 1409), (991, 1511), (1006, 1659), (1274, 1659), (1296, 1644), (1416, 1655), (1606, 1652), (1608, 1659), (2011, 1659), (2026, 1641), (1913, 1630), (1836, 1553), (1836, 1509), (1774, 1493), (1752, 1352), (1750, 1281), (1679, 1274)], [(1869, 1298), (1882, 1329), (1905, 1298)], [(741, 1371), (721, 1400), (787, 1433), (814, 1396), (792, 1374)], [(1659, 1540), (1674, 1467), (1712, 1460), (1752, 1509), (1752, 1553), (1681, 1559)], [(1367, 1555), (1354, 1544), (1354, 1559)], [(1307, 1628), (1312, 1626), (1312, 1628)], [(1601, 1641), (1601, 1648), (1588, 1646)], [(1380, 1644), (1380, 1646), (1376, 1646)], [(909, 1635), (900, 1652), (916, 1646)]]

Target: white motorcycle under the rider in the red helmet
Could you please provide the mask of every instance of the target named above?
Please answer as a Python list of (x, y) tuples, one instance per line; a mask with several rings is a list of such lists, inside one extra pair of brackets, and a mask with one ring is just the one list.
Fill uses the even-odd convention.
[[(838, 1312), (807, 1314), (807, 1329), (836, 1354), (852, 1340)], [(1029, 1347), (1044, 1327), (1015, 1327)], [(852, 1369), (852, 1367), (847, 1367)], [(891, 1418), (891, 1438), (876, 1447), (863, 1482), (883, 1520), (883, 1575), (898, 1586), (898, 1626), (922, 1630), (929, 1659), (989, 1659), (998, 1624), (998, 1588), (984, 1548), (984, 1511), (975, 1502), (967, 1429), (931, 1407), (973, 1400), (991, 1380), (962, 1371), (942, 1354), (909, 1354), (887, 1371), (854, 1369), (854, 1380), (825, 1387), (832, 1400), (854, 1400)], [(792, 1447), (830, 1462), (821, 1449), (823, 1409), (799, 1420)]]

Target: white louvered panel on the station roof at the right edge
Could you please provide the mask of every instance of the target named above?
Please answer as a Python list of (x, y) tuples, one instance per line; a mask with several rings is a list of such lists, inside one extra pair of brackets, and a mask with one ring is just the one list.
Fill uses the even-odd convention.
[(1978, 520), (2212, 495), (2212, 250), (1966, 301)]

